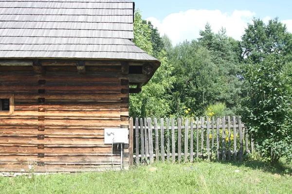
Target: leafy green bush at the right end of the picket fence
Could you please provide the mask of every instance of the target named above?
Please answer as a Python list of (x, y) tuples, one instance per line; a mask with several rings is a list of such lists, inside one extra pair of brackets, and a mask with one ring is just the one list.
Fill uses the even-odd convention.
[(243, 102), (242, 120), (257, 151), (270, 162), (292, 159), (292, 74), (287, 69), (270, 58), (246, 65), (244, 73), (250, 93)]

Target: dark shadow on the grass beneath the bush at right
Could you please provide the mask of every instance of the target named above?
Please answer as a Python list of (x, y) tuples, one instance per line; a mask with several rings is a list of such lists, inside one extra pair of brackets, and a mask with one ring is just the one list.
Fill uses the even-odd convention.
[[(226, 164), (226, 162), (220, 162), (222, 164)], [(263, 172), (269, 172), (273, 174), (288, 174), (292, 175), (292, 166), (285, 162), (285, 160), (280, 160), (276, 163), (268, 163), (259, 160), (246, 160), (242, 162), (230, 162), (231, 165), (234, 166), (245, 166), (252, 169), (258, 169)]]

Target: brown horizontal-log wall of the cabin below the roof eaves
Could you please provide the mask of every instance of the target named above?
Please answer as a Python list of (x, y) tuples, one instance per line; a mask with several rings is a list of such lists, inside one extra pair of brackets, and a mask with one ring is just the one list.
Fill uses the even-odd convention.
[(14, 113), (0, 112), (0, 172), (119, 169), (104, 129), (128, 128), (128, 64), (43, 65), (0, 66), (0, 97), (14, 95)]

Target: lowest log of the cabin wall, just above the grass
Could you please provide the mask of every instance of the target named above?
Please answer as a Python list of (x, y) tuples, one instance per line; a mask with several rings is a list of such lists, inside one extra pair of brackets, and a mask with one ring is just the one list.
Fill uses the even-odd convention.
[[(92, 164), (92, 163), (91, 163)], [(121, 170), (119, 162), (115, 162), (115, 165), (112, 165), (111, 162), (97, 163), (96, 165), (83, 165), (78, 163), (76, 165), (46, 165), (46, 166), (37, 166), (30, 164), (2, 164), (0, 165), (0, 172), (98, 172), (105, 170)]]

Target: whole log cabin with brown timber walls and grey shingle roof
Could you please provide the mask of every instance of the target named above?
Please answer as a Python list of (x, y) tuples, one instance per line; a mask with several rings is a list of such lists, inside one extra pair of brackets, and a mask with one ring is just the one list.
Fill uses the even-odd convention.
[(128, 129), (129, 94), (160, 66), (133, 20), (130, 0), (0, 0), (0, 172), (128, 167), (105, 129)]

